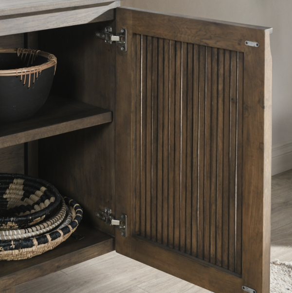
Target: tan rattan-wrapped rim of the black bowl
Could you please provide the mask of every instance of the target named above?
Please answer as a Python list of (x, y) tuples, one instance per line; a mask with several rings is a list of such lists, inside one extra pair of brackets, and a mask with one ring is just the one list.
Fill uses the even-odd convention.
[[(25, 58), (27, 54), (30, 55), (30, 58), (32, 58), (32, 61), (36, 59), (37, 56), (41, 56), (44, 58), (47, 58), (48, 61), (36, 66), (31, 67), (23, 67), (23, 68), (17, 68), (17, 69), (8, 69), (8, 70), (0, 70), (0, 76), (23, 76), (28, 74), (38, 74), (41, 73), (43, 70), (57, 65), (57, 59), (55, 55), (50, 54), (48, 52), (44, 52), (41, 50), (33, 50), (33, 49), (24, 49), (24, 48), (0, 48), (0, 54), (1, 53), (16, 53), (18, 56), (21, 54), (21, 58), (23, 55), (25, 55)], [(55, 73), (54, 73), (55, 74)]]

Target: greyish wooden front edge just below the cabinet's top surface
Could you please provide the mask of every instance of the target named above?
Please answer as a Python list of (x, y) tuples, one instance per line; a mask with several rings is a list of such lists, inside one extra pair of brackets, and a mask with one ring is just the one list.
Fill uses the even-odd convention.
[(15, 18), (3, 16), (0, 17), (0, 36), (113, 20), (113, 8), (117, 6), (119, 2), (109, 2), (89, 8), (63, 8), (41, 14), (20, 15)]

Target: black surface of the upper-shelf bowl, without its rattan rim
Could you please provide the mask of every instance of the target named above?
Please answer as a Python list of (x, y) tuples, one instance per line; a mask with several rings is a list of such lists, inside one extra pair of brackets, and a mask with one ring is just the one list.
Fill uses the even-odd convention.
[[(0, 53), (1, 70), (40, 66), (48, 62), (48, 58), (37, 56), (33, 64), (27, 64), (21, 55), (15, 53)], [(33, 116), (45, 103), (49, 96), (55, 74), (55, 66), (40, 72), (25, 76), (0, 76), (0, 123), (12, 123)], [(30, 81), (29, 81), (30, 76)], [(35, 82), (34, 82), (35, 81)]]

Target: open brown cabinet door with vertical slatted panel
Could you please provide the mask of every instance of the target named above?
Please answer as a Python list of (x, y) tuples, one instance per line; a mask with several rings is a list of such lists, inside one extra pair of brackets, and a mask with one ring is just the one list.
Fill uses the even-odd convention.
[(116, 251), (211, 292), (269, 293), (272, 29), (118, 8), (122, 28)]

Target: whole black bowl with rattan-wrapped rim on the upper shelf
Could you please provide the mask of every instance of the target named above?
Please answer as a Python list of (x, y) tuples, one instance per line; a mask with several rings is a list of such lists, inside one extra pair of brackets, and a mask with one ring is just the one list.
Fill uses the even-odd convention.
[(49, 96), (56, 65), (57, 59), (50, 53), (0, 48), (0, 123), (37, 113)]

